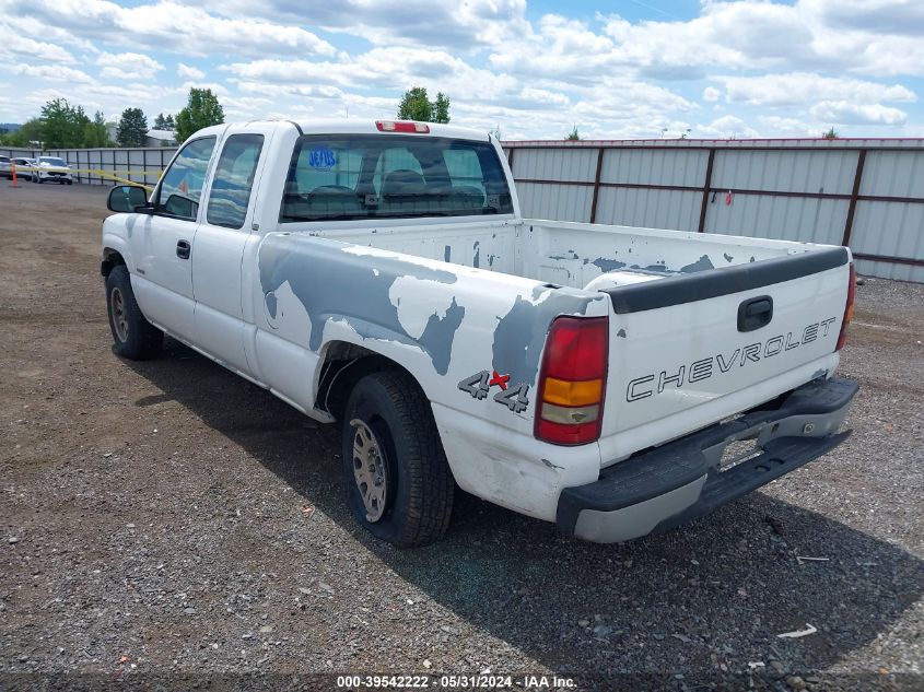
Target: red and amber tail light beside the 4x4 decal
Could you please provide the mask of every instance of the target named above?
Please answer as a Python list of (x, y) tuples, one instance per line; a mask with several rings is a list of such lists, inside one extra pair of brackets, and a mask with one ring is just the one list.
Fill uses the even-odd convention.
[(608, 347), (606, 317), (559, 317), (552, 322), (539, 372), (538, 439), (585, 445), (599, 438)]

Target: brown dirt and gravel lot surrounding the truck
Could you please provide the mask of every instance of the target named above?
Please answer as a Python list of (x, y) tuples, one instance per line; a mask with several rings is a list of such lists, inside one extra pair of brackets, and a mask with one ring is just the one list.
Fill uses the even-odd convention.
[(103, 189), (0, 185), (0, 688), (924, 685), (924, 286), (858, 288), (855, 433), (763, 491), (624, 546), (463, 497), (446, 539), (408, 552), (353, 525), (332, 426), (172, 341), (113, 354)]

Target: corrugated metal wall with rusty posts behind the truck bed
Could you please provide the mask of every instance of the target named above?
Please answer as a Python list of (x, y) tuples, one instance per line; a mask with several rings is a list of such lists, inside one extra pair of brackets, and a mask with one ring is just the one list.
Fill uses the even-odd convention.
[(924, 140), (504, 142), (531, 218), (849, 245), (924, 282)]

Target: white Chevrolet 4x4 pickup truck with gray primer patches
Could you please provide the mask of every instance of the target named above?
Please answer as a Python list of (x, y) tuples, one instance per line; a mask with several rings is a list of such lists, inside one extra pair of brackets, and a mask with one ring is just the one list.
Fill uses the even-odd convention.
[(215, 126), (108, 207), (116, 353), (168, 333), (340, 421), (352, 513), (397, 546), (443, 535), (456, 485), (623, 541), (849, 434), (846, 248), (524, 219), (481, 132)]

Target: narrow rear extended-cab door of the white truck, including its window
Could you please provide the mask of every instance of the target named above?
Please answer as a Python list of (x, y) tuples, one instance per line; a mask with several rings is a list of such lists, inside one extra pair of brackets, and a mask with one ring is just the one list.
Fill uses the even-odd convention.
[(242, 260), (250, 235), (260, 159), (269, 150), (273, 131), (259, 126), (226, 130), (192, 253), (194, 341), (245, 374), (252, 368), (244, 351)]

